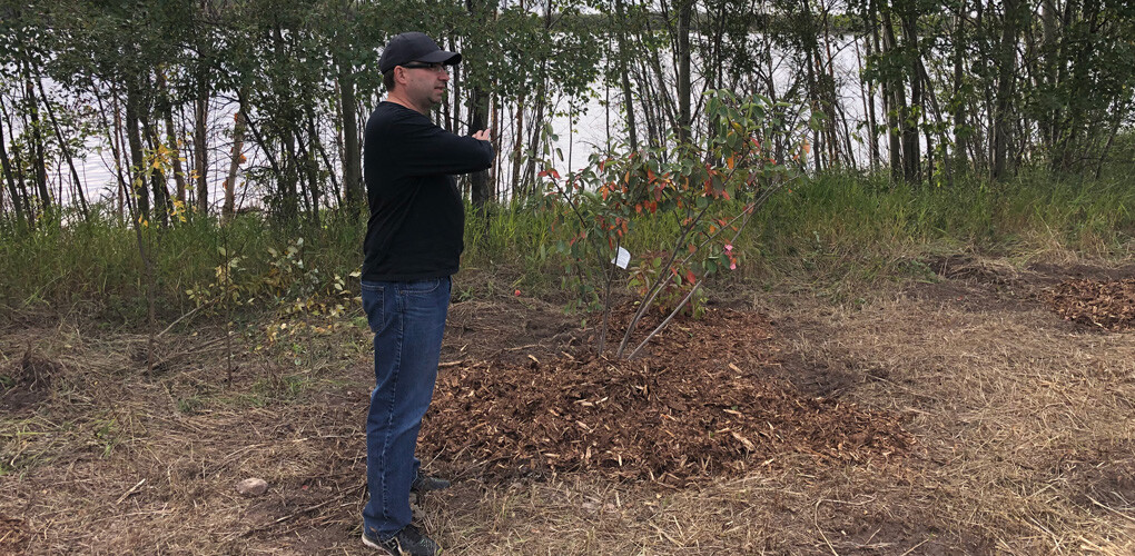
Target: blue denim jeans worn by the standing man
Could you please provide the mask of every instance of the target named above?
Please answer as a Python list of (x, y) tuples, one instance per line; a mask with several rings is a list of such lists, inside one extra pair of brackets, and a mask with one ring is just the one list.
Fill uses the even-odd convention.
[(363, 281), (362, 306), (375, 332), (375, 390), (367, 414), (367, 533), (387, 539), (410, 524), (410, 483), (422, 415), (434, 397), (449, 278)]

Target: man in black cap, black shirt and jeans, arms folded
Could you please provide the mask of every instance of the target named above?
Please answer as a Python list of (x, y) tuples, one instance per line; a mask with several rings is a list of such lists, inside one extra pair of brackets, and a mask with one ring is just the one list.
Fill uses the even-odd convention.
[(422, 33), (392, 39), (378, 61), (387, 100), (370, 115), (363, 137), (370, 220), (362, 303), (375, 332), (375, 390), (362, 540), (389, 554), (440, 551), (410, 524), (410, 492), (448, 482), (419, 475), (414, 448), (434, 396), (449, 277), (464, 248), (465, 212), (452, 175), (493, 162), (487, 130), (460, 137), (428, 117), (445, 93), (448, 66), (460, 61)]

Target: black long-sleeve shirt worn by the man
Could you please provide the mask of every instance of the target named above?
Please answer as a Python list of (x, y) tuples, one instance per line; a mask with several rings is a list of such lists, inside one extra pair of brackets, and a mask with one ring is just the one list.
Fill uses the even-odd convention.
[(363, 135), (370, 220), (362, 279), (410, 281), (455, 273), (465, 247), (465, 211), (453, 175), (491, 163), (489, 142), (454, 135), (402, 104), (379, 103)]

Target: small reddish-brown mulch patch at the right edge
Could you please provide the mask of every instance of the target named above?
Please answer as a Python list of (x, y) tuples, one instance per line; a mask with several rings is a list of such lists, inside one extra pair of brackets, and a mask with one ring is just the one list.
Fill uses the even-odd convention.
[(1067, 280), (1046, 297), (1065, 320), (1107, 330), (1135, 328), (1135, 279)]

